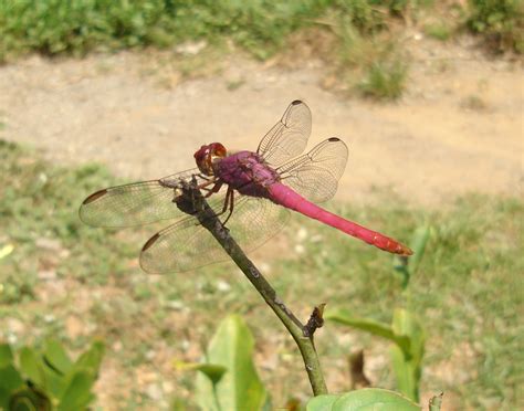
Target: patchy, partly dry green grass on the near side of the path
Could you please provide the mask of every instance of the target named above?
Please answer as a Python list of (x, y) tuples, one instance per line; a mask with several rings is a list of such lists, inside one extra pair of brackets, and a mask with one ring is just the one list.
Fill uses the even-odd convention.
[[(232, 264), (149, 276), (136, 259), (158, 228), (108, 231), (81, 223), (77, 208), (85, 196), (117, 183), (104, 168), (60, 168), (1, 143), (0, 171), (0, 250), (12, 245), (0, 260), (0, 340), (19, 346), (53, 336), (77, 349), (102, 337), (102, 378), (106, 372), (114, 384), (98, 387), (107, 399), (99, 405), (156, 407), (154, 383), (167, 401), (176, 397), (195, 405), (193, 378), (177, 373), (171, 359), (198, 360), (221, 317), (238, 313), (254, 333), (259, 371), (273, 403), (310, 394), (293, 341)], [(428, 210), (375, 196), (381, 201), (374, 203), (386, 205), (331, 208), (406, 242), (416, 228), (432, 228), (408, 302), (428, 335), (422, 393), (444, 391), (457, 409), (517, 409), (523, 201), (471, 194)], [(389, 323), (392, 307), (405, 304), (389, 254), (301, 215), (279, 239), (254, 257), (301, 317), (325, 302)], [(317, 333), (321, 361), (333, 376), (329, 388), (349, 386), (344, 358), (363, 347), (367, 360), (378, 359), (368, 376), (373, 384), (395, 388), (387, 361), (380, 366), (386, 346), (364, 334), (350, 336), (333, 325)], [(164, 382), (172, 382), (171, 391), (163, 391)]]

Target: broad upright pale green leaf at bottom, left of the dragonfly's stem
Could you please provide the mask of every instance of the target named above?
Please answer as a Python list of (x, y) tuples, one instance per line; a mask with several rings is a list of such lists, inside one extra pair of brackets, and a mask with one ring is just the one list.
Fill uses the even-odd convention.
[(217, 383), (199, 373), (197, 401), (205, 410), (261, 410), (268, 392), (253, 363), (253, 337), (242, 318), (228, 316), (209, 342), (206, 362), (228, 371)]

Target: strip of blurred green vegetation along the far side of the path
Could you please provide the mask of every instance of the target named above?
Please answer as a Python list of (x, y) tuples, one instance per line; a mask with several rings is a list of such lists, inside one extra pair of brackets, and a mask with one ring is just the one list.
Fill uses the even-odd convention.
[(82, 56), (128, 48), (168, 49), (187, 41), (205, 41), (222, 53), (234, 46), (268, 60), (316, 39), (315, 56), (329, 61), (352, 89), (388, 99), (405, 88), (406, 28), (418, 25), (442, 41), (470, 31), (494, 53), (522, 53), (523, 4), (521, 0), (4, 0), (0, 62), (31, 52)]

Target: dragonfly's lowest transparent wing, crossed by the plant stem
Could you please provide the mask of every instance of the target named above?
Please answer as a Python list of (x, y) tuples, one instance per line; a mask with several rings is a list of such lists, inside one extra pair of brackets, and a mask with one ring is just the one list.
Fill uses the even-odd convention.
[[(227, 223), (243, 251), (252, 251), (281, 231), (290, 212), (266, 199), (240, 197)], [(193, 217), (158, 232), (143, 247), (140, 265), (154, 274), (193, 270), (229, 260), (220, 244)]]

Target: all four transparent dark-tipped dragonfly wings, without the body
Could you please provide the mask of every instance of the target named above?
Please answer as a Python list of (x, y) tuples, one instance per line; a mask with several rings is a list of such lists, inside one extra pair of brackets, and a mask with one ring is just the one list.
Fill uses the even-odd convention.
[[(284, 185), (310, 201), (322, 202), (336, 191), (346, 165), (347, 147), (339, 139), (331, 138), (300, 156), (310, 134), (310, 108), (295, 101), (264, 136), (258, 154), (277, 170)], [(182, 180), (190, 181), (193, 176), (200, 179), (198, 173), (198, 169), (193, 169), (160, 180), (101, 190), (84, 201), (81, 219), (95, 226), (130, 226), (185, 215), (155, 234), (143, 247), (140, 265), (149, 273), (184, 272), (226, 261), (226, 252), (212, 235), (198, 224), (195, 217), (184, 214), (172, 201), (177, 185)], [(223, 208), (224, 192), (222, 189), (213, 193), (208, 201), (216, 213)], [(234, 210), (227, 226), (240, 246), (249, 252), (281, 231), (289, 215), (289, 210), (268, 199), (235, 193)]]

